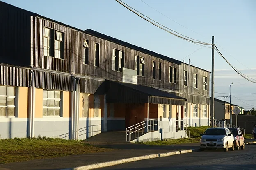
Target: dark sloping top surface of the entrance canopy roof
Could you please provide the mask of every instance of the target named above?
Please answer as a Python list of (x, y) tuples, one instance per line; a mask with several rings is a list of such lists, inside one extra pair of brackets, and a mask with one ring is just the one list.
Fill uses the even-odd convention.
[(175, 94), (170, 94), (168, 92), (164, 92), (162, 90), (155, 89), (155, 88), (149, 87), (149, 86), (137, 85), (137, 84), (131, 84), (131, 83), (123, 83), (123, 82), (118, 82), (118, 81), (110, 81), (110, 82), (114, 82), (119, 85), (123, 85), (123, 86), (129, 87), (131, 89), (135, 89), (135, 90), (142, 92), (144, 94), (147, 94), (149, 96), (172, 98), (172, 99), (178, 99), (178, 100), (187, 100), (186, 98), (182, 98), (180, 96), (176, 96)]

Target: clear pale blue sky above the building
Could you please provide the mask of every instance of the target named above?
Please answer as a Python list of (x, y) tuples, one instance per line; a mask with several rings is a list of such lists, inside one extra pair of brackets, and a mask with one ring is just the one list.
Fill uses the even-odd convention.
[[(155, 27), (115, 0), (2, 1), (82, 30), (93, 29), (176, 60), (184, 59), (185, 63), (190, 58), (192, 65), (211, 71), (210, 48), (201, 48)], [(256, 0), (122, 1), (185, 36), (206, 43), (214, 36), (224, 57), (242, 73), (256, 79)], [(239, 76), (216, 52), (214, 69), (216, 97), (223, 96), (223, 100), (229, 101), (224, 96), (229, 96), (229, 85), (233, 82), (231, 102), (245, 109), (256, 107), (256, 83)]]

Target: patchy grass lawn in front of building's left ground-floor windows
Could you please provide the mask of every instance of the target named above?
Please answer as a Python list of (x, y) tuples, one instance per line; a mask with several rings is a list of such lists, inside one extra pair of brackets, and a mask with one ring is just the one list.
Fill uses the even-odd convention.
[(0, 139), (0, 164), (111, 150), (58, 138)]

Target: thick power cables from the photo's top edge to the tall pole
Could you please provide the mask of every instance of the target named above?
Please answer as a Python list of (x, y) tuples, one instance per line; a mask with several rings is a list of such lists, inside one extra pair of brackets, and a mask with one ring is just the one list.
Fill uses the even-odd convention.
[[(121, 4), (121, 5), (122, 5), (123, 7), (125, 7), (126, 9), (129, 9), (130, 11), (132, 11), (133, 13), (135, 13), (137, 16), (139, 16), (139, 17), (143, 18), (144, 20), (150, 22), (151, 24), (155, 25), (156, 27), (159, 27), (160, 29), (167, 31), (167, 32), (169, 32), (170, 34), (173, 34), (174, 36), (177, 36), (177, 37), (179, 37), (179, 38), (182, 38), (183, 40), (187, 40), (187, 41), (192, 42), (192, 43), (197, 44), (197, 45), (199, 45), (199, 44), (202, 44), (202, 45), (212, 45), (212, 44), (208, 44), (208, 43), (205, 43), (205, 42), (202, 42), (202, 41), (199, 41), (199, 40), (196, 40), (196, 39), (193, 39), (193, 38), (184, 36), (183, 34), (180, 34), (180, 33), (176, 32), (176, 31), (174, 31), (174, 30), (172, 30), (172, 29), (169, 29), (168, 27), (165, 27), (164, 25), (161, 25), (160, 23), (156, 22), (155, 20), (152, 20), (152, 19), (149, 18), (148, 16), (145, 16), (144, 14), (142, 14), (142, 13), (139, 12), (139, 11), (137, 11), (137, 10), (134, 9), (133, 7), (130, 7), (128, 4), (124, 3), (124, 2), (121, 1), (121, 0), (115, 0), (115, 1), (117, 1), (119, 4)], [(128, 8), (127, 6), (128, 6), (129, 8)], [(145, 18), (145, 17), (146, 17), (146, 18)], [(148, 20), (147, 18), (149, 18), (149, 20)], [(157, 24), (155, 24), (155, 23), (153, 23), (153, 22), (151, 22), (150, 20), (153, 21), (153, 22), (155, 22), (155, 23), (157, 23), (157, 24), (159, 24), (159, 25), (161, 25), (162, 27), (165, 27), (166, 29), (160, 27), (159, 25), (157, 25)], [(175, 32), (176, 34), (172, 33), (171, 31), (168, 31), (167, 29), (169, 29), (169, 30)], [(180, 34), (181, 36), (179, 36), (179, 35), (177, 35), (177, 34)], [(182, 36), (184, 36), (184, 37), (186, 37), (186, 38), (184, 38), (184, 37), (182, 37)], [(188, 39), (188, 38), (190, 38), (191, 40)], [(194, 41), (193, 41), (193, 40), (194, 40)], [(208, 47), (208, 48), (211, 48), (211, 47)]]

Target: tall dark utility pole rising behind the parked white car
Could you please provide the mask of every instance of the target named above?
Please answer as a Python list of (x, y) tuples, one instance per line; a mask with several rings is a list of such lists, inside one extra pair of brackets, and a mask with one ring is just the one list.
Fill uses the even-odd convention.
[(214, 127), (214, 36), (212, 36), (212, 100), (210, 104), (211, 115), (212, 115), (212, 128)]

